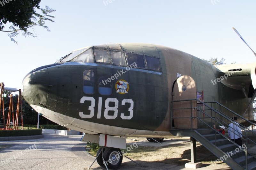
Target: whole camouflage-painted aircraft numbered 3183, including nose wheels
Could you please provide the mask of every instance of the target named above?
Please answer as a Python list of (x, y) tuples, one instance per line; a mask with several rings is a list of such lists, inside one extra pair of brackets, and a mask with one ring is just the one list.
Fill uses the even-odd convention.
[[(256, 62), (215, 66), (161, 45), (109, 43), (79, 48), (30, 71), (22, 94), (47, 119), (107, 146), (97, 153), (104, 167), (104, 158), (126, 148), (122, 137), (161, 142), (173, 136), (172, 127), (189, 129), (191, 122), (171, 119), (172, 101), (218, 101), (253, 122), (255, 70)], [(192, 124), (192, 129), (203, 128)]]

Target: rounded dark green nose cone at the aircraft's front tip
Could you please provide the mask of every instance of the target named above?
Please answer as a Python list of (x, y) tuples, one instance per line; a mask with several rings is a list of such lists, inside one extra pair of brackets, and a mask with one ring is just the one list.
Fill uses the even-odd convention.
[(49, 72), (47, 68), (30, 72), (23, 79), (23, 96), (30, 105), (45, 105), (49, 86)]

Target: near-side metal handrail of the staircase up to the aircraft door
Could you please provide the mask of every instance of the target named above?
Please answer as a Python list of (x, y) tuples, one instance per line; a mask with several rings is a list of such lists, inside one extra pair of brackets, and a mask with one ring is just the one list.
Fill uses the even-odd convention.
[[(210, 108), (212, 111), (214, 111), (215, 113), (217, 113), (217, 114), (219, 114), (220, 116), (222, 116), (222, 117), (224, 117), (225, 119), (227, 119), (229, 122), (232, 122), (232, 123), (234, 123), (234, 124), (236, 124), (236, 125), (238, 125), (238, 127), (240, 128), (240, 129), (243, 129), (244, 130), (244, 132), (245, 132), (245, 145), (246, 145), (246, 149), (245, 150), (243, 150), (244, 152), (245, 152), (245, 167), (246, 167), (246, 169), (247, 169), (247, 156), (248, 156), (248, 152), (247, 152), (247, 138), (248, 138), (248, 135), (247, 135), (247, 130), (245, 130), (245, 128), (243, 127), (243, 126), (241, 126), (240, 125), (240, 123), (237, 123), (237, 122), (235, 122), (233, 119), (231, 119), (231, 118), (229, 118), (227, 115), (225, 115), (224, 113), (222, 113), (222, 112), (220, 112), (219, 110), (217, 110), (217, 109), (214, 109), (214, 108), (212, 108), (212, 107), (210, 107), (209, 105), (207, 105), (206, 104), (206, 102), (202, 102), (201, 100), (198, 100), (198, 99), (188, 99), (188, 100), (173, 100), (173, 101), (171, 101), (171, 103), (174, 103), (174, 102), (181, 102), (181, 101), (190, 101), (190, 108), (178, 108), (178, 109), (192, 109), (192, 108), (194, 108), (194, 109), (197, 109), (197, 110), (200, 110), (202, 113), (204, 113), (204, 111), (202, 111), (201, 109), (199, 109), (198, 107), (192, 107), (192, 105), (191, 105), (191, 101), (193, 101), (193, 100), (196, 100), (196, 101), (198, 101), (199, 103), (201, 103), (201, 104), (203, 104), (204, 106), (206, 106), (206, 107), (208, 107), (208, 108)], [(207, 102), (207, 103), (211, 103), (211, 102)], [(171, 107), (172, 107), (172, 105), (171, 105)], [(224, 106), (223, 106), (224, 107)], [(173, 110), (175, 110), (174, 108), (171, 108), (171, 110), (173, 111)], [(235, 112), (234, 112), (235, 113)], [(204, 113), (205, 115), (207, 115), (209, 118), (211, 118), (211, 119), (213, 119), (212, 118), (212, 116), (209, 116), (208, 114), (206, 114), (206, 113)], [(235, 113), (236, 114), (236, 113)], [(238, 114), (236, 114), (236, 115), (238, 115)], [(179, 117), (175, 117), (175, 119), (176, 118), (179, 118)], [(180, 117), (180, 118), (186, 118), (186, 117)], [(191, 117), (189, 117), (189, 118), (196, 118), (196, 119), (198, 119), (198, 120), (200, 120), (200, 118), (198, 118), (198, 117), (194, 117), (194, 116), (192, 116), (192, 113), (191, 113)], [(171, 120), (173, 119), (173, 115), (171, 115)], [(202, 121), (202, 120), (200, 120), (200, 121)], [(172, 121), (171, 121), (172, 122)], [(202, 121), (203, 122), (203, 121)], [(216, 115), (215, 115), (215, 122), (216, 122)], [(218, 122), (218, 121), (217, 121)], [(205, 123), (205, 122), (203, 122), (204, 124), (206, 124), (207, 126), (209, 126), (207, 123)], [(218, 122), (219, 123), (219, 122)], [(191, 121), (191, 127), (192, 127), (192, 121)], [(209, 126), (210, 127), (210, 126)], [(172, 127), (171, 127), (172, 128)], [(212, 127), (210, 127), (211, 129), (213, 129)], [(233, 131), (236, 131), (236, 132), (238, 132), (236, 129), (234, 129), (234, 128), (232, 128), (233, 129)], [(217, 132), (217, 130), (216, 129), (214, 129), (215, 130), (215, 146), (216, 146), (216, 133), (220, 133), (219, 131)], [(241, 133), (241, 132), (239, 132), (239, 133)], [(221, 133), (220, 133), (221, 134)], [(244, 136), (243, 134), (242, 134), (242, 136)], [(231, 143), (233, 143), (233, 144), (235, 144), (236, 146), (238, 146), (239, 147), (239, 145), (238, 144), (236, 144), (234, 141), (232, 141), (232, 140), (230, 140), (229, 138), (227, 138), (226, 136), (224, 136), (226, 139), (228, 139)]]

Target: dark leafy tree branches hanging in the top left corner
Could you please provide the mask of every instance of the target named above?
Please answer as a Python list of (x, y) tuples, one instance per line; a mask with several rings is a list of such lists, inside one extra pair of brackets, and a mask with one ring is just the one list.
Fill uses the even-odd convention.
[[(7, 3), (8, 2), (8, 3)], [(36, 37), (34, 32), (35, 26), (42, 26), (47, 31), (50, 31), (47, 26), (45, 26), (45, 21), (51, 21), (55, 18), (50, 13), (56, 11), (48, 6), (45, 9), (40, 8), (41, 0), (5, 0), (0, 1), (0, 31), (6, 32), (11, 39), (11, 41), (17, 42), (13, 37), (17, 36), (20, 32), (25, 37)], [(41, 14), (36, 13), (36, 9), (41, 10)], [(4, 30), (5, 24), (11, 23), (9, 30)], [(33, 33), (32, 33), (33, 32)]]

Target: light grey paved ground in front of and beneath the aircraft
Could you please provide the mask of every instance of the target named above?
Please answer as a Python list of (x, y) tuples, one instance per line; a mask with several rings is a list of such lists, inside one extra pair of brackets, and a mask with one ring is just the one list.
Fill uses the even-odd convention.
[[(0, 169), (88, 169), (94, 157), (85, 152), (81, 136), (58, 136), (44, 134), (41, 139), (0, 141)], [(142, 167), (127, 158), (119, 169), (186, 169), (184, 166), (136, 161)], [(96, 162), (92, 169), (102, 169)], [(225, 165), (204, 165), (199, 169), (230, 169)]]

